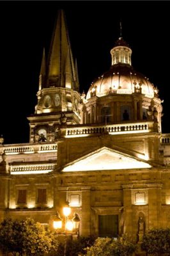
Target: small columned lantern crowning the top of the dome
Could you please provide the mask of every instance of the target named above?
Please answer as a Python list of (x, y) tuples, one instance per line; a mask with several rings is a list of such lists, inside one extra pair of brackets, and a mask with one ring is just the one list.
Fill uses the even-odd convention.
[(127, 42), (120, 37), (111, 49), (112, 65), (123, 63), (131, 66), (131, 54), (132, 50), (128, 47)]

